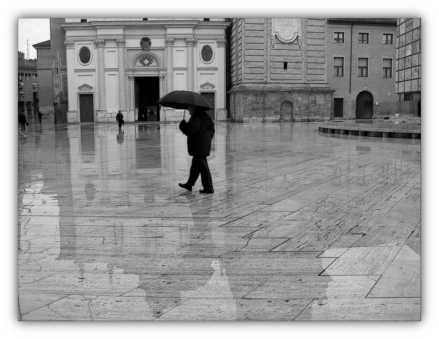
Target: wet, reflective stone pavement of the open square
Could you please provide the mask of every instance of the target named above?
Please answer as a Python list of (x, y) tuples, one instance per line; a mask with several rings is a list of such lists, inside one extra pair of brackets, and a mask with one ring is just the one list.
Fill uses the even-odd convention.
[(216, 123), (18, 128), (22, 321), (417, 321), (421, 140)]

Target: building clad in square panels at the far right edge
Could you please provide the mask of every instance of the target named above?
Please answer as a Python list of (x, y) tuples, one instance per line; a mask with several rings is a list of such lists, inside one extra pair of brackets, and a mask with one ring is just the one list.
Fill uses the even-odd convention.
[(396, 20), (396, 82), (399, 113), (417, 115), (421, 109), (421, 18)]

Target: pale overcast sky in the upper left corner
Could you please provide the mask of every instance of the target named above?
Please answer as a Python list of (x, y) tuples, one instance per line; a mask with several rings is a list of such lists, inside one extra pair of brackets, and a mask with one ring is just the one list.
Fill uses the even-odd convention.
[(49, 18), (18, 18), (18, 51), (27, 55), (27, 40), (29, 40), (29, 59), (36, 58), (36, 49), (32, 47), (43, 41), (50, 40)]

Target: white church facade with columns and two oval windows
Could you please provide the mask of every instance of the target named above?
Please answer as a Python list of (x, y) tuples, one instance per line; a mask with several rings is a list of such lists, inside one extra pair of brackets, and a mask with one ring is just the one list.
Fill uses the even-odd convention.
[[(111, 20), (111, 21), (109, 21)], [(180, 120), (158, 99), (174, 90), (201, 92), (227, 118), (225, 19), (66, 18), (68, 122)]]

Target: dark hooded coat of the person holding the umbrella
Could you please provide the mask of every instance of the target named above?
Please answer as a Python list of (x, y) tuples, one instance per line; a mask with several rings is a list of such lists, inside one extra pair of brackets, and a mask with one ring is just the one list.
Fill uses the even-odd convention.
[(188, 122), (180, 122), (180, 130), (187, 135), (187, 151), (191, 157), (209, 157), (215, 127), (203, 110), (196, 110)]

